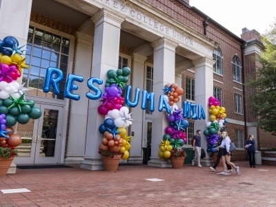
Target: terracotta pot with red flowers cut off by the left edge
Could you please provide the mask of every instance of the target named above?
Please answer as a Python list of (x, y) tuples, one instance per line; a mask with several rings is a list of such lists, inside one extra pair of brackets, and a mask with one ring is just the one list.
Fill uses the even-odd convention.
[(14, 156), (18, 155), (18, 151), (8, 144), (0, 146), (0, 177), (3, 177), (7, 174), (8, 168), (14, 159)]

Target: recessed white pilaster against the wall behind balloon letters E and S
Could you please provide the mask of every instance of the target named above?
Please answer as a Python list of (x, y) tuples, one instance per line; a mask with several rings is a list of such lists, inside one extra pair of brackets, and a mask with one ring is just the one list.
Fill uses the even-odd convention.
[[(66, 164), (81, 163), (86, 146), (86, 126), (88, 116), (88, 98), (86, 97), (86, 82), (90, 77), (92, 62), (93, 37), (88, 34), (76, 32), (77, 50), (75, 57), (74, 74), (83, 77), (83, 83), (76, 82), (79, 87), (77, 94), (79, 101), (71, 101), (70, 127), (68, 137)], [(76, 130), (77, 126), (77, 130)]]

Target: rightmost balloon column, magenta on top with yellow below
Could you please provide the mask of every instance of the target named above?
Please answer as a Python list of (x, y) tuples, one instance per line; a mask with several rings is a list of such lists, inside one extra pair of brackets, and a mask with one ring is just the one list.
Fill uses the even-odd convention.
[(215, 143), (219, 139), (217, 135), (218, 130), (224, 128), (224, 118), (226, 117), (226, 109), (220, 106), (220, 102), (215, 97), (209, 98), (208, 106), (210, 121), (206, 123), (207, 129), (204, 130), (204, 135), (206, 136), (206, 140), (208, 141), (207, 152), (216, 152)]

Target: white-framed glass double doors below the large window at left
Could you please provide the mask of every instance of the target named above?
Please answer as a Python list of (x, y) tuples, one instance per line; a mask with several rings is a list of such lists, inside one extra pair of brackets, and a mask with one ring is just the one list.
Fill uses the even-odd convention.
[(61, 152), (61, 119), (63, 107), (36, 104), (41, 109), (39, 119), (17, 124), (22, 143), (17, 147), (15, 164), (57, 164)]

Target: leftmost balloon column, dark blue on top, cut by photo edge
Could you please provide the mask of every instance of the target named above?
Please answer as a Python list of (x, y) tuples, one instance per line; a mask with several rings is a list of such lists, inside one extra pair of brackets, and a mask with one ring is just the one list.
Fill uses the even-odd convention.
[(17, 147), (21, 137), (14, 134), (12, 126), (27, 124), (30, 119), (39, 119), (41, 110), (34, 107), (33, 100), (25, 99), (27, 88), (16, 80), (21, 77), (25, 65), (23, 46), (19, 46), (16, 38), (8, 36), (0, 40), (0, 146), (8, 144)]

